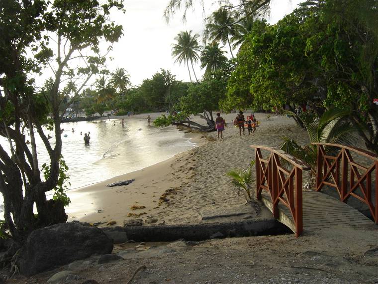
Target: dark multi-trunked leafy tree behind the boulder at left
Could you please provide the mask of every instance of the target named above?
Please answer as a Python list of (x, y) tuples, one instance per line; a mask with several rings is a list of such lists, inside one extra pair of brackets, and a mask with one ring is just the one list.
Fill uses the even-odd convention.
[[(1, 2), (0, 52), (6, 56), (0, 56), (0, 135), (8, 143), (0, 145), (0, 192), (4, 218), (15, 241), (4, 258), (12, 256), (32, 230), (67, 220), (65, 201), (47, 201), (45, 194), (56, 188), (60, 192), (64, 173), (60, 110), (62, 104), (68, 106), (76, 99), (93, 74), (103, 70), (100, 41), (111, 45), (121, 36), (122, 26), (109, 20), (113, 7), (123, 9), (122, 1), (101, 5), (96, 0)], [(38, 92), (32, 78), (50, 67), (54, 78)], [(62, 82), (73, 78), (78, 87), (74, 97), (67, 99), (62, 96)], [(50, 144), (43, 126), (53, 126), (55, 143)], [(26, 133), (30, 145), (25, 142)], [(37, 135), (50, 158), (44, 178)]]

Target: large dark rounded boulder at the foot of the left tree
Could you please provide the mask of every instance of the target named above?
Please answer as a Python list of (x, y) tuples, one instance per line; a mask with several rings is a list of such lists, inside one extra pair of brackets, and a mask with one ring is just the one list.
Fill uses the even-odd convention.
[(21, 274), (31, 276), (92, 255), (110, 254), (113, 242), (98, 228), (56, 224), (33, 231), (18, 256)]

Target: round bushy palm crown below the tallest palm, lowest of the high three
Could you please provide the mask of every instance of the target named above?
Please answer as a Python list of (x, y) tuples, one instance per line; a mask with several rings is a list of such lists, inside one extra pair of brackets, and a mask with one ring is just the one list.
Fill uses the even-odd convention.
[(201, 52), (201, 68), (205, 68), (207, 74), (214, 74), (215, 70), (221, 68), (227, 61), (227, 57), (223, 54), (225, 51), (219, 47), (217, 42), (212, 42), (204, 47)]

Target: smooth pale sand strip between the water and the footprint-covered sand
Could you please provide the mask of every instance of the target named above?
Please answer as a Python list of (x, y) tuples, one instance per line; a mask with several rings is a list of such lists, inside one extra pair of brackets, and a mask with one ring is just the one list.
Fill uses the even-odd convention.
[[(199, 135), (197, 133), (186, 133), (184, 137), (188, 139), (187, 142), (194, 144), (193, 147), (174, 154), (163, 161), (67, 191), (67, 195), (72, 201), (71, 206), (66, 208), (66, 213), (69, 215), (68, 222), (78, 220), (89, 223), (105, 222), (103, 224), (106, 224), (110, 221), (115, 221), (115, 224), (119, 226), (122, 225), (124, 220), (135, 219), (135, 215), (128, 217), (129, 213), (140, 214), (146, 212), (143, 215), (148, 215), (147, 212), (153, 213), (151, 211), (156, 211), (160, 196), (167, 189), (180, 186), (180, 181), (168, 180), (166, 177), (173, 173), (174, 168), (172, 168), (172, 165), (179, 157), (186, 155), (190, 150), (202, 143)], [(106, 186), (106, 184), (130, 179), (135, 179), (135, 181), (129, 185)], [(157, 184), (156, 187), (146, 186), (149, 182)], [(121, 203), (117, 202), (119, 198), (122, 200)], [(122, 209), (119, 210), (119, 207), (114, 208), (117, 205), (121, 206)], [(130, 209), (134, 205), (145, 206), (146, 208), (140, 210)]]

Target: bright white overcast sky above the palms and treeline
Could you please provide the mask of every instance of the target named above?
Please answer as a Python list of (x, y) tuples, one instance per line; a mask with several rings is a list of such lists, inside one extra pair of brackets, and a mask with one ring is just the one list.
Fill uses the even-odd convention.
[[(182, 22), (183, 12), (177, 12), (169, 24), (164, 20), (164, 9), (169, 0), (126, 0), (126, 13), (117, 13), (112, 19), (122, 24), (124, 35), (113, 47), (111, 56), (113, 61), (108, 62), (112, 71), (116, 67), (127, 69), (131, 82), (139, 85), (144, 79), (151, 78), (160, 68), (168, 69), (176, 75), (176, 79), (189, 81), (188, 69), (184, 65), (174, 64), (172, 58), (172, 44), (175, 36), (183, 30), (193, 30), (193, 33), (202, 34), (203, 18), (202, 7), (198, 6), (194, 12), (189, 12), (187, 22)], [(276, 23), (285, 14), (292, 12), (303, 0), (272, 0), (269, 23)], [(215, 10), (213, 0), (204, 0), (206, 15)], [(227, 48), (224, 48), (227, 51)], [(236, 54), (236, 51), (234, 52)], [(229, 55), (227, 55), (230, 57)], [(199, 79), (203, 75), (199, 63), (194, 66)], [(192, 79), (194, 77), (192, 76)]]

